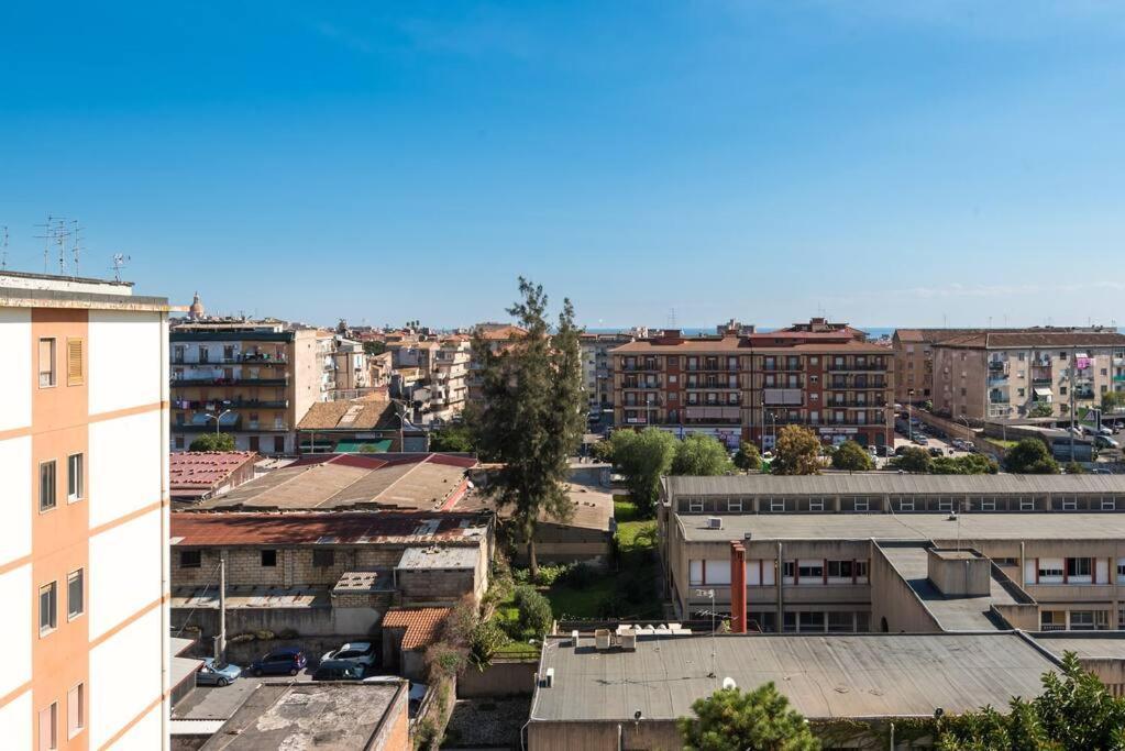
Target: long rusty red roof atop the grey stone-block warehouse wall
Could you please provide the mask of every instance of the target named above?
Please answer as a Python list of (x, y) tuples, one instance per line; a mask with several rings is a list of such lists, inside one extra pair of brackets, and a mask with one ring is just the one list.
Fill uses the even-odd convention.
[(177, 512), (172, 514), (171, 539), (173, 545), (189, 546), (426, 544), (476, 541), (486, 525), (479, 514)]

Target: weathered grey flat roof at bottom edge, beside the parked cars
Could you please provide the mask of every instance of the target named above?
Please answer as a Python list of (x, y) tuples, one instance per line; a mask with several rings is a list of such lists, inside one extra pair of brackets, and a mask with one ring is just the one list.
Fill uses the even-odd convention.
[(206, 751), (366, 749), (406, 681), (263, 684), (201, 747)]

